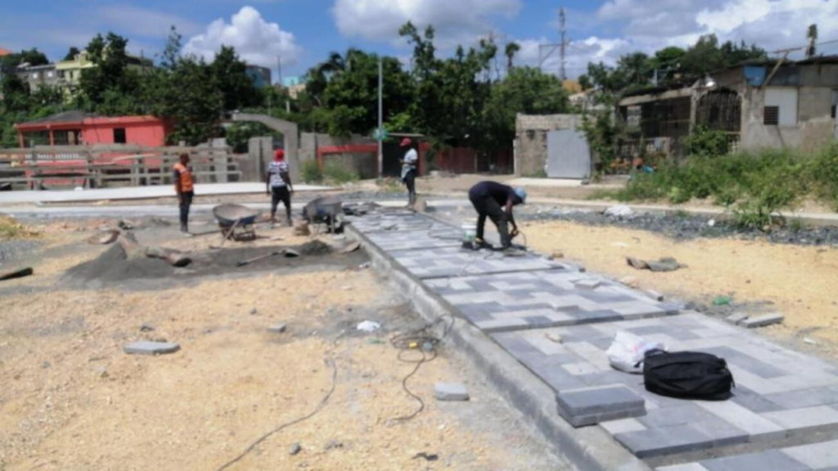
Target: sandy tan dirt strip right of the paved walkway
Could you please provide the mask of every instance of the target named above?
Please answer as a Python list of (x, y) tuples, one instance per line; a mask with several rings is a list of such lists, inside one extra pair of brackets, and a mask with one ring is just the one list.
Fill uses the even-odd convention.
[[(650, 232), (573, 222), (524, 225), (529, 245), (541, 253), (563, 252), (589, 270), (643, 289), (709, 304), (718, 295), (733, 302), (768, 301), (769, 312), (786, 316), (781, 326), (761, 329), (787, 338), (814, 339), (838, 355), (838, 250), (732, 239), (675, 242)], [(625, 258), (675, 257), (687, 267), (651, 273)]]

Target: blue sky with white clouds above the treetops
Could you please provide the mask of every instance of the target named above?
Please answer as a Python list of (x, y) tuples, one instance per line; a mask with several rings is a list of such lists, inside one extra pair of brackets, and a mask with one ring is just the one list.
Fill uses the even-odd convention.
[[(230, 45), (276, 80), (278, 63), (283, 76), (301, 75), (349, 47), (409, 63), (411, 49), (397, 32), (412, 21), (436, 28), (443, 55), (492, 35), (522, 46), (516, 63), (558, 73), (558, 51), (542, 58), (539, 50), (560, 41), (560, 8), (571, 77), (591, 61), (613, 64), (627, 52), (685, 47), (709, 33), (769, 51), (804, 46), (812, 23), (819, 40), (838, 39), (838, 0), (0, 0), (0, 48), (37, 47), (55, 61), (113, 32), (129, 38), (131, 52), (153, 58), (175, 25), (185, 52), (212, 59)], [(821, 52), (838, 55), (838, 43)]]

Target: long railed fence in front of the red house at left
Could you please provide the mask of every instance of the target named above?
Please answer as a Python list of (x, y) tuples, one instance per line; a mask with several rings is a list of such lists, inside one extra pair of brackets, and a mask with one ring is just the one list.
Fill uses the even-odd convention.
[(229, 147), (142, 147), (133, 145), (36, 146), (0, 149), (0, 186), (103, 188), (168, 184), (180, 154), (189, 154), (197, 182), (222, 183), (241, 178)]

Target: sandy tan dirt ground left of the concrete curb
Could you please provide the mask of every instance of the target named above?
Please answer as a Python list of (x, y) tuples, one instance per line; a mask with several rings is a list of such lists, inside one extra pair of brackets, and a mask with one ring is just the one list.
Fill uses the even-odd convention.
[[(218, 469), (314, 410), (332, 386), (326, 361), (337, 379), (325, 408), (229, 469), (566, 469), (444, 347), (408, 383), (424, 411), (393, 421), (419, 404), (402, 389), (414, 364), (400, 362), (388, 340), (422, 323), (383, 280), (358, 269), (358, 259), (190, 282), (65, 288), (68, 268), (107, 250), (84, 243), (103, 224), (55, 225), (34, 258), (36, 275), (0, 287), (0, 470)], [(299, 242), (288, 229), (264, 233), (285, 239), (256, 245)], [(172, 235), (172, 228), (137, 231), (141, 242), (184, 250), (219, 242)], [(382, 330), (359, 335), (364, 319)], [(279, 322), (286, 333), (266, 331)], [(142, 331), (143, 323), (154, 330)], [(175, 341), (181, 350), (122, 352), (141, 339)], [(471, 400), (435, 401), (434, 383), (454, 381), (468, 385)], [(291, 456), (295, 443), (301, 451)], [(438, 460), (415, 458), (420, 452)]]

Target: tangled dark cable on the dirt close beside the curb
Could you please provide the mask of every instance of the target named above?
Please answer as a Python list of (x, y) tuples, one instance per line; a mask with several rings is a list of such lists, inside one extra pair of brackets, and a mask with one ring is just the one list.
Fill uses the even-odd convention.
[[(445, 324), (442, 335), (440, 337), (436, 337), (431, 331), (433, 330), (434, 327), (436, 327), (438, 324), (440, 324), (441, 322), (444, 322), (446, 317), (451, 318), (451, 323)], [(407, 382), (419, 372), (419, 369), (422, 367), (423, 364), (430, 363), (436, 359), (436, 357), (439, 355), (436, 347), (442, 342), (442, 340), (445, 339), (445, 337), (448, 336), (452, 328), (454, 328), (454, 322), (455, 322), (454, 317), (452, 317), (448, 314), (445, 314), (440, 316), (433, 323), (426, 324), (421, 328), (393, 337), (390, 340), (391, 345), (399, 350), (398, 355), (396, 357), (398, 361), (403, 363), (415, 364), (414, 370), (402, 379), (402, 389), (404, 389), (408, 396), (410, 396), (417, 402), (419, 402), (419, 409), (417, 409), (416, 411), (414, 411), (408, 415), (402, 415), (402, 416), (392, 419), (394, 422), (410, 421), (415, 419), (417, 415), (419, 415), (420, 413), (422, 413), (422, 411), (424, 410), (424, 400), (422, 400), (420, 396), (416, 395), (414, 391), (410, 390), (410, 388), (407, 387)], [(408, 353), (411, 351), (421, 353), (422, 357), (416, 360), (407, 359), (405, 357), (405, 353)]]

